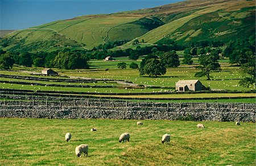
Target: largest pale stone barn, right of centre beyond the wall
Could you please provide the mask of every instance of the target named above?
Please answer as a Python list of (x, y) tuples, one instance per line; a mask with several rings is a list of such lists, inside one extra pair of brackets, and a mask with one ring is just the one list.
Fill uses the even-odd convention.
[(199, 80), (180, 80), (175, 86), (178, 92), (205, 90), (205, 86)]

